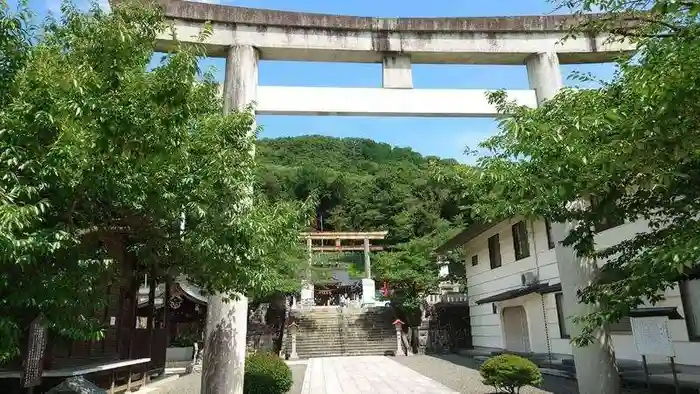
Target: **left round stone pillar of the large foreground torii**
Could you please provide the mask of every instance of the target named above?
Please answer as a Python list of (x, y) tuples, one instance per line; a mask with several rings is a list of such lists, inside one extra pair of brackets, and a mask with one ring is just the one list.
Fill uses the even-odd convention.
[[(250, 45), (231, 46), (226, 57), (224, 112), (230, 113), (255, 101), (257, 85), (257, 49)], [(250, 132), (253, 133), (254, 129), (253, 125)], [(252, 150), (251, 154), (255, 151)], [(252, 204), (252, 199), (247, 203)], [(209, 297), (202, 394), (243, 394), (248, 298), (244, 294), (232, 296), (213, 294)], [(227, 302), (228, 298), (232, 299)]]

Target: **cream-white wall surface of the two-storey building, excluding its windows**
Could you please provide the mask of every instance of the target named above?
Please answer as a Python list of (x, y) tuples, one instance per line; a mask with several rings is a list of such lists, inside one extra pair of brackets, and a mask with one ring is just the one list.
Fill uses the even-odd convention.
[[(476, 301), (517, 289), (522, 286), (521, 275), (525, 272), (536, 274), (541, 283), (557, 284), (557, 268), (554, 249), (549, 249), (544, 221), (528, 221), (530, 256), (515, 260), (515, 249), (511, 226), (522, 218), (505, 220), (475, 237), (463, 247), (467, 251), (467, 295), (469, 299), (472, 336), (475, 347), (505, 347), (503, 329), (503, 308), (522, 306), (528, 322), (531, 351), (535, 353), (571, 354), (569, 339), (562, 338), (559, 328), (555, 293), (530, 294), (516, 299), (496, 303), (496, 313), (490, 303), (477, 305)], [(596, 235), (596, 246), (604, 248), (616, 244), (638, 232), (648, 229), (647, 223), (638, 221), (627, 223)], [(491, 269), (489, 263), (488, 238), (498, 233), (500, 237), (501, 267)], [(472, 265), (472, 256), (478, 256), (478, 264)], [(604, 264), (599, 261), (598, 264)], [(678, 288), (666, 292), (666, 299), (657, 306), (677, 307), (685, 316)], [(669, 322), (669, 330), (674, 340), (679, 364), (700, 365), (700, 342), (691, 342), (684, 320)], [(618, 359), (641, 360), (637, 354), (631, 334), (613, 334), (613, 344)], [(666, 362), (649, 358), (650, 362)]]

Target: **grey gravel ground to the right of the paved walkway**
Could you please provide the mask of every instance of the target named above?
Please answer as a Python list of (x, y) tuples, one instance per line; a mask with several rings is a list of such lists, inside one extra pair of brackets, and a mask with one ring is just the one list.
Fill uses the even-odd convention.
[[(467, 357), (459, 355), (412, 356), (393, 358), (412, 370), (438, 381), (461, 394), (491, 394), (490, 386), (481, 383), (479, 367)], [(527, 387), (522, 394), (578, 394), (576, 382), (570, 379), (544, 376), (541, 388)], [(638, 394), (645, 391), (625, 389), (625, 394)]]

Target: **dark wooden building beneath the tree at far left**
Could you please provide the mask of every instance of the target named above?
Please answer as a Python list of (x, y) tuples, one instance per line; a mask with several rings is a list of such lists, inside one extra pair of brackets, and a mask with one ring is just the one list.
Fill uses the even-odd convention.
[[(103, 322), (103, 337), (92, 341), (70, 341), (46, 331), (41, 354), (25, 352), (25, 359), (0, 369), (0, 392), (5, 394), (43, 393), (71, 376), (85, 376), (108, 392), (131, 390), (147, 382), (151, 346), (140, 347), (141, 337), (150, 338), (136, 328), (139, 278), (129, 275), (105, 286), (106, 306), (96, 311)], [(28, 336), (32, 336), (32, 332)], [(28, 342), (36, 339), (28, 338)], [(43, 341), (43, 339), (42, 339)], [(36, 349), (35, 349), (36, 350)], [(32, 382), (27, 382), (24, 366), (32, 366)], [(23, 369), (25, 371), (23, 371)]]

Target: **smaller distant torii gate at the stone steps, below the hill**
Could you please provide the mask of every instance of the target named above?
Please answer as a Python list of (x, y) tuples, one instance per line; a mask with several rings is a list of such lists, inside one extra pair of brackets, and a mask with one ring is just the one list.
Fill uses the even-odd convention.
[[(371, 231), (371, 232), (310, 232), (302, 233), (301, 236), (306, 239), (306, 247), (309, 253), (309, 264), (312, 264), (312, 256), (314, 252), (349, 252), (362, 251), (364, 253), (364, 268), (365, 275), (362, 278), (362, 304), (373, 305), (375, 302), (375, 284), (372, 279), (372, 268), (370, 260), (371, 251), (382, 250), (382, 246), (371, 245), (372, 240), (384, 239), (388, 231)], [(333, 241), (334, 245), (324, 245), (324, 241)], [(343, 244), (345, 241), (345, 245)], [(350, 244), (347, 244), (350, 241)], [(362, 245), (357, 242), (362, 241)], [(302, 281), (301, 287), (301, 304), (302, 306), (314, 305), (314, 285), (311, 281), (305, 279)]]

